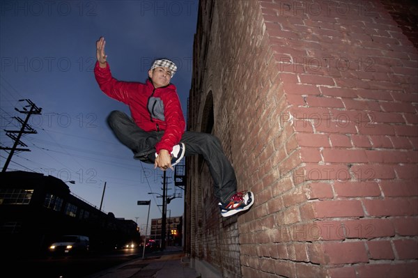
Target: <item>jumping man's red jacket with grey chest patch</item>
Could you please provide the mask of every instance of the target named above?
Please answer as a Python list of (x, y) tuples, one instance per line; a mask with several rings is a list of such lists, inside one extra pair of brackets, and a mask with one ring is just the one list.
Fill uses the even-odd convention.
[(171, 152), (173, 146), (180, 142), (185, 131), (185, 118), (178, 100), (177, 89), (173, 84), (154, 88), (152, 82), (120, 82), (111, 76), (109, 63), (94, 68), (95, 79), (100, 89), (110, 98), (125, 103), (130, 108), (135, 123), (144, 131), (161, 131), (164, 135), (155, 145), (160, 150)]

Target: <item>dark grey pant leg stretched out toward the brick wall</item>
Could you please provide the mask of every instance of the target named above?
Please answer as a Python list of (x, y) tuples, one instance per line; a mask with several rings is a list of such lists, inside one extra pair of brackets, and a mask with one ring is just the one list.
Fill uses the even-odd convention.
[(186, 146), (185, 156), (203, 155), (215, 184), (215, 196), (227, 202), (237, 191), (237, 179), (219, 139), (208, 133), (186, 131), (181, 142)]

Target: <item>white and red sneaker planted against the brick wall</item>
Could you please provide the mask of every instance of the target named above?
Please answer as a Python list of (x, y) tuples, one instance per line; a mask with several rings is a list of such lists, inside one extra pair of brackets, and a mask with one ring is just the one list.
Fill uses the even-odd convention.
[(228, 217), (248, 210), (254, 203), (254, 194), (251, 191), (242, 191), (233, 194), (227, 203), (219, 203), (221, 215)]

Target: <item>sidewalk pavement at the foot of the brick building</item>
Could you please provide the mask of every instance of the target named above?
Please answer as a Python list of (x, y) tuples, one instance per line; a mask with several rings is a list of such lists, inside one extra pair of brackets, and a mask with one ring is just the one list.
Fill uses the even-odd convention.
[(87, 278), (199, 278), (189, 268), (188, 258), (181, 247), (167, 247), (161, 256), (146, 256), (90, 275)]

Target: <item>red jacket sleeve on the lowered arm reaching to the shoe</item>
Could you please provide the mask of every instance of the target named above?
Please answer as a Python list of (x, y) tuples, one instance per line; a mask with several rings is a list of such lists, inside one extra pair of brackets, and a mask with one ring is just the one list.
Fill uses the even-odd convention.
[(164, 99), (164, 118), (167, 128), (160, 142), (155, 145), (157, 153), (160, 153), (160, 150), (168, 150), (171, 153), (173, 146), (180, 142), (185, 132), (185, 118), (176, 91), (169, 92)]

